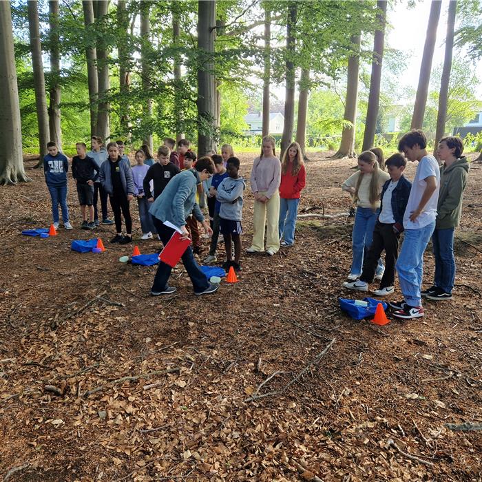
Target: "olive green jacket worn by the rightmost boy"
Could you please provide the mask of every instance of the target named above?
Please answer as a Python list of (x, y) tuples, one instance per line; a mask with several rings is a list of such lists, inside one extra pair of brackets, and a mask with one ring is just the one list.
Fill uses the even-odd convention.
[(467, 185), (469, 164), (466, 157), (457, 159), (450, 167), (440, 167), (440, 191), (435, 229), (459, 226), (462, 214), (463, 189)]

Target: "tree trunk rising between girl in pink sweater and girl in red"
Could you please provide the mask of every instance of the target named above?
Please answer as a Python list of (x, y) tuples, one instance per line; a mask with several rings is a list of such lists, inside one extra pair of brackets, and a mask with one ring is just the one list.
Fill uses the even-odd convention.
[(286, 94), (284, 97), (284, 125), (281, 137), (281, 153), (283, 155), (285, 149), (293, 140), (293, 123), (295, 121), (295, 23), (297, 14), (297, 4), (290, 2), (288, 6), (288, 22), (286, 23)]

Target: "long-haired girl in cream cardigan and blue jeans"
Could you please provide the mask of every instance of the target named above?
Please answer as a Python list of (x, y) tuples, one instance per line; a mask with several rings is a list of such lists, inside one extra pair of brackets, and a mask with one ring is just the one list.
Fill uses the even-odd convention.
[[(348, 280), (355, 281), (362, 274), (364, 252), (372, 244), (373, 228), (380, 211), (380, 193), (390, 176), (379, 169), (377, 156), (372, 151), (364, 151), (358, 156), (358, 171), (343, 184), (344, 191), (353, 194), (357, 204), (352, 233), (353, 261)], [(377, 279), (381, 279), (384, 267), (377, 267)]]

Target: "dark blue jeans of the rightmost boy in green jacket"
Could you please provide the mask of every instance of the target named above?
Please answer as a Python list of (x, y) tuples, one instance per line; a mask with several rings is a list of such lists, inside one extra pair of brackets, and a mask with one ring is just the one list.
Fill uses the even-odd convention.
[(454, 231), (455, 228), (435, 229), (432, 234), (435, 257), (434, 285), (446, 293), (452, 293), (455, 282)]

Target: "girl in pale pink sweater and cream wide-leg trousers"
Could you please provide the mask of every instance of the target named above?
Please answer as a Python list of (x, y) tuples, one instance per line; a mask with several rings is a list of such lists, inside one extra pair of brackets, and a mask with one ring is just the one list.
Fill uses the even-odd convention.
[(281, 163), (275, 156), (275, 139), (263, 138), (261, 156), (255, 158), (251, 170), (251, 189), (255, 198), (253, 212), (253, 242), (247, 253), (264, 252), (264, 224), (266, 229), (266, 254), (273, 256), (280, 249), (280, 187)]

